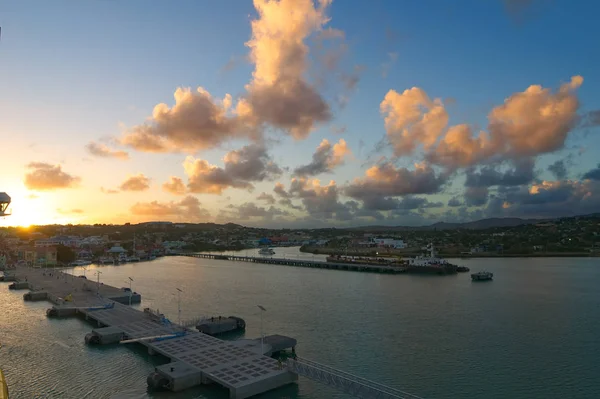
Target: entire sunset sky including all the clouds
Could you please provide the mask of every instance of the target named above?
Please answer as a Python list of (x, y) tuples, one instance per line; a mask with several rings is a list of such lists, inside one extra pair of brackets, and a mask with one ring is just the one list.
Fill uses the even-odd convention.
[(598, 12), (0, 0), (0, 226), (600, 212)]

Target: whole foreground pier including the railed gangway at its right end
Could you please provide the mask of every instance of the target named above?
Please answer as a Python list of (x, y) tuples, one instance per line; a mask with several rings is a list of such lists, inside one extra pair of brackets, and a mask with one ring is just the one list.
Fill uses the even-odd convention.
[(80, 316), (95, 324), (85, 337), (87, 343), (139, 343), (150, 355), (169, 359), (148, 376), (152, 388), (177, 392), (217, 384), (229, 391), (230, 398), (244, 399), (293, 383), (302, 375), (358, 398), (417, 398), (295, 355), (284, 362), (272, 358), (275, 352), (295, 347), (291, 337), (224, 341), (172, 323), (158, 312), (131, 308), (125, 304), (133, 295), (140, 302), (140, 294), (99, 281), (51, 269), (17, 267), (6, 273), (12, 289), (29, 290), (25, 300), (53, 303), (49, 316)]

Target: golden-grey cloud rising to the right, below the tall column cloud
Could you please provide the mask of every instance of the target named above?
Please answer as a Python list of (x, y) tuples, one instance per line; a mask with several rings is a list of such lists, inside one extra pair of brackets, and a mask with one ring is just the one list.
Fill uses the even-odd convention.
[(221, 168), (188, 156), (184, 162), (188, 190), (208, 194), (221, 194), (229, 187), (252, 190), (252, 182), (272, 180), (283, 173), (271, 160), (267, 149), (256, 144), (228, 152), (223, 162)]

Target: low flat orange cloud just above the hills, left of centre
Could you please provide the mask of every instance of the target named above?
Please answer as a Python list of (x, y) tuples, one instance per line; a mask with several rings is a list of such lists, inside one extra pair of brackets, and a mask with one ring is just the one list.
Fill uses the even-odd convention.
[(136, 202), (130, 211), (134, 215), (153, 218), (172, 216), (186, 222), (207, 221), (210, 218), (210, 213), (201, 207), (200, 201), (196, 197), (191, 195), (177, 202)]

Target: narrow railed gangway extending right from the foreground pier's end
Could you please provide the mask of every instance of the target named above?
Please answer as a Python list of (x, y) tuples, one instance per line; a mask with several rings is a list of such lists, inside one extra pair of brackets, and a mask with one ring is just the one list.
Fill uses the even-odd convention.
[(285, 365), (293, 373), (337, 388), (361, 399), (423, 399), (408, 392), (390, 388), (308, 359), (289, 358), (286, 360)]

